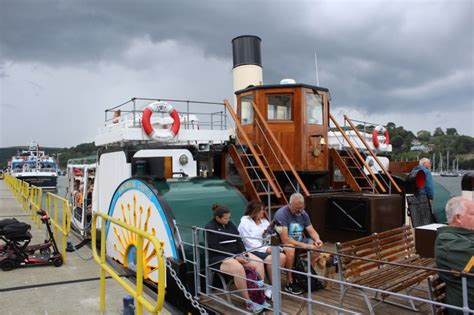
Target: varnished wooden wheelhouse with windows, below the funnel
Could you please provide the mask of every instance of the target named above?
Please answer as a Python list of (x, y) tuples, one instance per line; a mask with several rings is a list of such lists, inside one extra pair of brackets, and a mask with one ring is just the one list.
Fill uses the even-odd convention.
[[(303, 176), (327, 177), (329, 90), (307, 84), (250, 86), (236, 92), (237, 115), (247, 136), (261, 146), (274, 171), (280, 166), (265, 145), (256, 120), (263, 117), (294, 168)], [(253, 104), (254, 105), (253, 105)], [(311, 176), (314, 177), (314, 176)]]

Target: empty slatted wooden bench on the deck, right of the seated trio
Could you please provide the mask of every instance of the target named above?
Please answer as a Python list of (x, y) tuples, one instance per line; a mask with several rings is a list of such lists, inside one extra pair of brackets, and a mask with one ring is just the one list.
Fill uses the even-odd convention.
[[(356, 258), (339, 256), (339, 270), (341, 280), (391, 292), (405, 291), (410, 295), (414, 286), (426, 280), (434, 274), (432, 271), (415, 269), (402, 266), (387, 265), (383, 262), (396, 262), (420, 267), (434, 266), (432, 258), (421, 258), (416, 254), (413, 233), (410, 227), (402, 226), (382, 233), (374, 233), (354, 241), (336, 244), (337, 252), (360, 258), (368, 258), (380, 262), (361, 260)], [(340, 295), (340, 306), (344, 303), (344, 297), (351, 286), (343, 286)], [(369, 291), (363, 288), (355, 288), (364, 297), (371, 314), (379, 303), (386, 302), (401, 307), (417, 310), (413, 300), (409, 305), (387, 301), (388, 293), (377, 292), (372, 299), (377, 300), (372, 304), (367, 294)]]

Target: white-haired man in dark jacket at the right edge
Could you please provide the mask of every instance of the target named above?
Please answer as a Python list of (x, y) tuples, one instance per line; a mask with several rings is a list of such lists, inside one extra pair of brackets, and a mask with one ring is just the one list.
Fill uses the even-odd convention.
[[(462, 271), (474, 257), (474, 201), (451, 198), (446, 204), (448, 226), (438, 229), (435, 243), (436, 266), (440, 269)], [(472, 272), (467, 270), (467, 272)], [(440, 273), (446, 282), (446, 303), (462, 307), (461, 277)], [(467, 278), (469, 308), (474, 309), (474, 278)], [(448, 310), (449, 314), (461, 314)]]

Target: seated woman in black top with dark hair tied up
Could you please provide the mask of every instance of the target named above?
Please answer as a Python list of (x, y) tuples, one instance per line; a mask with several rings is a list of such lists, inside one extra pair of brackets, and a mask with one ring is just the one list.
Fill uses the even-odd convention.
[[(253, 267), (261, 279), (265, 277), (263, 262), (252, 253), (246, 253), (244, 244), (239, 236), (237, 227), (230, 221), (230, 210), (222, 205), (214, 204), (213, 219), (206, 224), (207, 243), (209, 246), (209, 266), (225, 273), (234, 275), (234, 283), (247, 300), (247, 310), (254, 313), (260, 313), (268, 305), (259, 305), (250, 301), (247, 292), (247, 280), (244, 267)], [(210, 231), (218, 231), (213, 233)], [(235, 236), (224, 235), (220, 233), (234, 234)], [(218, 250), (214, 251), (214, 250)]]

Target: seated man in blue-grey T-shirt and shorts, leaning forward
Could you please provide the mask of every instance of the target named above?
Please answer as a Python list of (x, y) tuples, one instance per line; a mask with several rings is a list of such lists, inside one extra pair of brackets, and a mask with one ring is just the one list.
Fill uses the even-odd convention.
[[(274, 220), (282, 225), (280, 240), (283, 245), (312, 250), (323, 245), (318, 233), (311, 225), (308, 213), (304, 210), (303, 195), (299, 193), (291, 195), (289, 204), (277, 210)], [(304, 231), (311, 238), (305, 238), (303, 236)], [(291, 270), (295, 262), (295, 248), (284, 247), (284, 251), (286, 254), (286, 268)], [(314, 266), (317, 256), (316, 252), (311, 253), (312, 266)], [(303, 290), (296, 283), (293, 283), (292, 273), (287, 271), (286, 277), (285, 291), (295, 295), (302, 294)]]

